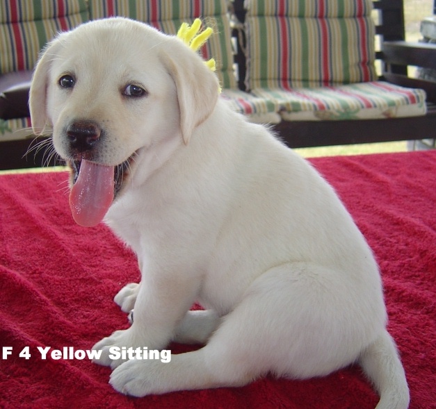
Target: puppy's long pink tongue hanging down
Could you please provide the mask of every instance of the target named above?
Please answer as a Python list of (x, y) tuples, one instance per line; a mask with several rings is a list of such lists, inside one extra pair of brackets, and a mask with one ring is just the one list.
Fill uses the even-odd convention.
[(113, 201), (113, 166), (82, 160), (70, 192), (70, 208), (77, 224), (92, 227), (102, 221)]

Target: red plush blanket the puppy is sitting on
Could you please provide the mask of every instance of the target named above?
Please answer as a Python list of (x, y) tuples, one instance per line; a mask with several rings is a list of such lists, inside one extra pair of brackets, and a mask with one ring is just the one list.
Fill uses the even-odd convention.
[[(435, 408), (436, 152), (312, 163), (334, 185), (380, 262), (410, 408)], [(108, 228), (74, 224), (66, 181), (66, 173), (0, 176), (0, 408), (376, 406), (359, 367), (309, 381), (267, 377), (245, 387), (141, 399), (115, 392), (110, 369), (70, 354), (128, 326), (112, 299), (140, 274), (134, 255)], [(61, 358), (43, 360), (37, 347), (58, 349)]]

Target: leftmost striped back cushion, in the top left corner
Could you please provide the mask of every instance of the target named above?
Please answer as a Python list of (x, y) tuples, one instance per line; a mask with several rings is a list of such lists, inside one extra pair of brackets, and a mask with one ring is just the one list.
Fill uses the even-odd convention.
[(48, 40), (87, 19), (86, 0), (1, 1), (0, 73), (33, 69)]

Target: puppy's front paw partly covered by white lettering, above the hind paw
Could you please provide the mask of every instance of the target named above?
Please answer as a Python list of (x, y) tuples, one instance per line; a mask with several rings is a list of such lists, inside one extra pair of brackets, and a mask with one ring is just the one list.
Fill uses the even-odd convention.
[[(112, 369), (121, 365), (122, 362), (129, 360), (129, 354), (134, 358), (136, 344), (131, 328), (126, 330), (115, 331), (111, 336), (103, 338), (92, 347), (96, 351), (102, 351), (98, 359), (93, 359), (99, 365), (111, 367)], [(130, 352), (129, 352), (130, 351)]]

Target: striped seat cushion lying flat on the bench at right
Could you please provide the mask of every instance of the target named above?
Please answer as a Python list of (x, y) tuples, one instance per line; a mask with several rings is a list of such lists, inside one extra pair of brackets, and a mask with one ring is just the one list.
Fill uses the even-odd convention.
[(382, 119), (426, 113), (423, 90), (382, 81), (293, 90), (257, 88), (252, 94), (276, 103), (286, 120)]

